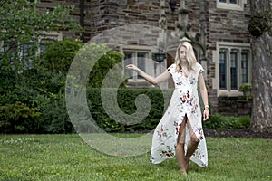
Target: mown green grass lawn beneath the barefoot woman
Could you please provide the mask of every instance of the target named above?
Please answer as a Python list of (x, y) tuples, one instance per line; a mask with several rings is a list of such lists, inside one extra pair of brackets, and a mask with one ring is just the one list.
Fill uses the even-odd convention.
[(0, 180), (272, 180), (272, 139), (207, 138), (207, 145), (209, 167), (191, 163), (181, 176), (176, 159), (152, 165), (150, 153), (111, 157), (78, 135), (4, 135)]

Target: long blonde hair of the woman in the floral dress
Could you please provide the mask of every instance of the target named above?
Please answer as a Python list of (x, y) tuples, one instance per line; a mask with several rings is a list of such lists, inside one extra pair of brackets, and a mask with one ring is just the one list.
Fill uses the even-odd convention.
[(176, 52), (176, 58), (175, 58), (175, 64), (176, 64), (176, 71), (181, 70), (181, 65), (180, 65), (180, 48), (185, 47), (187, 52), (186, 52), (186, 60), (188, 62), (187, 70), (188, 71), (195, 71), (197, 59), (193, 50), (192, 45), (189, 42), (181, 42), (177, 48)]

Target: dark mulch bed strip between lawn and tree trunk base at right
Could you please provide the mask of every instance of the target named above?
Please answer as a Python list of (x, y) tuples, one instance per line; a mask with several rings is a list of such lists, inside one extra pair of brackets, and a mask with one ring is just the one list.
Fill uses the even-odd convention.
[(212, 138), (272, 138), (272, 133), (253, 132), (249, 129), (204, 129), (204, 134)]

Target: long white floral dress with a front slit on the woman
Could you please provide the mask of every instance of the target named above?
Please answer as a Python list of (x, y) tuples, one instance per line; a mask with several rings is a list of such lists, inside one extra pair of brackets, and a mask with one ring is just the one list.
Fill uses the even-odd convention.
[[(151, 147), (151, 163), (159, 164), (167, 158), (175, 156), (177, 140), (181, 122), (185, 115), (191, 125), (191, 129), (199, 139), (199, 146), (190, 159), (200, 167), (208, 166), (208, 154), (206, 140), (202, 130), (202, 114), (199, 106), (198, 79), (203, 72), (202, 66), (196, 64), (196, 72), (188, 77), (182, 71), (176, 71), (176, 65), (172, 64), (167, 69), (175, 83), (168, 109), (165, 111), (160, 123), (154, 130)], [(189, 129), (186, 127), (185, 152), (189, 143)]]

